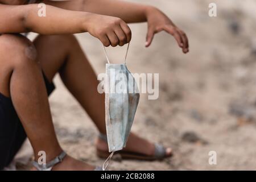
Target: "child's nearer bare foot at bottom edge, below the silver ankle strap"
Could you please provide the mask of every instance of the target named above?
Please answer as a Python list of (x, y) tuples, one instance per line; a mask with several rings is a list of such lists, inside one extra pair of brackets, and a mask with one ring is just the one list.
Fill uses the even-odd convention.
[[(76, 160), (71, 156), (67, 155), (62, 162), (52, 167), (52, 171), (93, 171), (94, 166)], [(31, 171), (36, 171), (35, 167), (31, 168)]]

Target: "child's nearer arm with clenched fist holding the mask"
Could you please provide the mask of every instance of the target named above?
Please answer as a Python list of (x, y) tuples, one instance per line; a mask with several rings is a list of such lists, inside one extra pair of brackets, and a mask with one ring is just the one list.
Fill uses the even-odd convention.
[(38, 16), (38, 5), (0, 5), (0, 32), (39, 34), (75, 34), (88, 31), (104, 46), (121, 46), (131, 40), (131, 31), (123, 20), (113, 16), (46, 6), (46, 17)]

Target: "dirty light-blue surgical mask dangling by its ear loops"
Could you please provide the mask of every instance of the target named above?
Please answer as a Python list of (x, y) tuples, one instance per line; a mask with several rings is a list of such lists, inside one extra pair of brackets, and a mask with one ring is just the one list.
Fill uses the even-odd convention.
[(126, 67), (127, 46), (124, 64), (110, 64), (106, 49), (105, 77), (105, 120), (109, 152), (112, 152), (103, 164), (105, 171), (115, 151), (126, 146), (137, 106), (139, 91), (134, 77)]

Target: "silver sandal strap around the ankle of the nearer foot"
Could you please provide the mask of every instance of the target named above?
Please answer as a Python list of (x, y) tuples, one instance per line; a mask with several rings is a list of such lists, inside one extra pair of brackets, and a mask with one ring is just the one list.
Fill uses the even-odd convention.
[(33, 161), (32, 164), (36, 169), (38, 169), (38, 171), (51, 171), (52, 167), (62, 162), (66, 155), (66, 152), (62, 151), (60, 155), (56, 156), (55, 159), (51, 160), (47, 164), (38, 164), (38, 162), (35, 161)]

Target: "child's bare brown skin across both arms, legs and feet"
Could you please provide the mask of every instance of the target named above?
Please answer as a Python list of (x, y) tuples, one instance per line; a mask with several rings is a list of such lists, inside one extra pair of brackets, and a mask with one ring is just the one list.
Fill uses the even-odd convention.
[[(113, 3), (116, 1), (110, 0), (110, 2)], [(24, 1), (0, 1), (0, 3), (21, 5)], [(46, 3), (50, 4), (53, 2), (46, 1)], [(24, 12), (21, 11), (18, 13), (16, 12), (17, 9), (15, 9), (16, 6), (0, 5), (0, 12), (2, 14), (7, 14), (13, 9), (15, 10), (13, 13), (14, 18), (6, 21), (11, 22), (11, 24), (6, 23), (3, 26), (0, 24), (0, 32), (7, 33), (0, 36), (0, 92), (12, 98), (15, 110), (34, 148), (35, 159), (38, 158), (38, 155), (36, 155), (38, 151), (44, 150), (47, 153), (47, 161), (59, 155), (61, 147), (53, 129), (41, 69), (49, 81), (52, 81), (56, 73), (60, 73), (64, 84), (90, 115), (98, 130), (101, 133), (106, 133), (104, 95), (97, 92), (98, 81), (96, 75), (77, 40), (70, 34), (89, 31), (90, 34), (100, 39), (105, 46), (123, 46), (130, 42), (131, 32), (125, 21), (120, 18), (125, 19), (126, 22), (142, 22), (148, 20), (148, 22), (152, 23), (148, 24), (146, 46), (151, 44), (156, 32), (168, 30), (170, 34), (175, 36), (183, 52), (188, 52), (186, 36), (183, 34), (181, 36), (182, 32), (172, 24), (171, 20), (154, 9), (154, 14), (159, 19), (156, 21), (155, 16), (148, 13), (148, 10), (153, 11), (151, 7), (144, 12), (144, 9), (146, 10), (144, 6), (133, 5), (138, 8), (138, 16), (135, 17), (141, 17), (140, 19), (136, 19), (126, 17), (118, 11), (114, 11), (113, 13), (115, 16), (119, 15), (120, 18), (109, 16), (112, 15), (109, 11), (104, 12), (106, 15), (86, 13), (85, 11), (100, 13), (99, 11), (101, 10), (98, 10), (96, 6), (90, 5), (91, 3), (85, 6), (91, 6), (90, 10), (82, 9), (80, 11), (72, 11), (77, 10), (76, 8), (80, 6), (71, 6), (71, 4), (68, 4), (71, 2), (54, 3), (56, 3), (56, 6), (62, 6), (61, 8), (64, 9), (70, 7), (69, 9), (71, 10), (49, 6), (47, 7), (48, 16), (51, 18), (42, 19), (36, 15), (37, 7), (34, 5), (24, 5)], [(112, 3), (109, 4), (111, 5)], [(121, 3), (121, 5), (131, 6), (130, 3), (127, 3), (127, 5)], [(111, 6), (109, 9), (111, 9)], [(20, 22), (20, 17), (25, 17), (24, 14), (26, 14), (26, 19)], [(65, 14), (65, 17), (61, 17), (59, 14)], [(76, 19), (76, 22), (72, 23), (70, 19)], [(55, 24), (58, 28), (53, 26)], [(98, 26), (98, 24), (101, 26)], [(12, 32), (26, 32), (27, 30), (44, 35), (38, 36), (31, 43), (23, 36), (8, 34)], [(65, 35), (50, 36), (47, 34)], [(94, 102), (90, 102), (92, 99)], [(101, 139), (97, 139), (96, 148), (108, 151), (108, 145)], [(145, 155), (154, 155), (154, 145), (145, 139), (139, 138), (135, 134), (130, 135), (127, 147), (124, 150), (139, 152)], [(166, 155), (168, 156), (170, 154), (171, 148), (167, 148)], [(67, 156), (63, 162), (53, 167), (53, 170), (92, 170), (93, 168), (89, 164), (82, 163), (79, 160)]]

